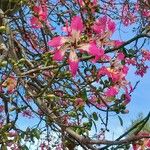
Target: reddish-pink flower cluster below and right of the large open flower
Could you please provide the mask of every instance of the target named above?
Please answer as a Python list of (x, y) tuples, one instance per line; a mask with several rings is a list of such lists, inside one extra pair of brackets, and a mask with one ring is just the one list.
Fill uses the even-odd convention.
[(103, 76), (107, 76), (108, 79), (112, 82), (110, 86), (107, 87), (105, 96), (116, 96), (122, 88), (125, 91), (125, 103), (127, 104), (130, 101), (132, 86), (126, 80), (126, 75), (129, 68), (126, 65), (123, 65), (121, 60), (124, 60), (124, 54), (118, 53), (116, 59), (112, 61), (110, 67), (103, 66), (99, 69), (98, 77), (101, 78)]

